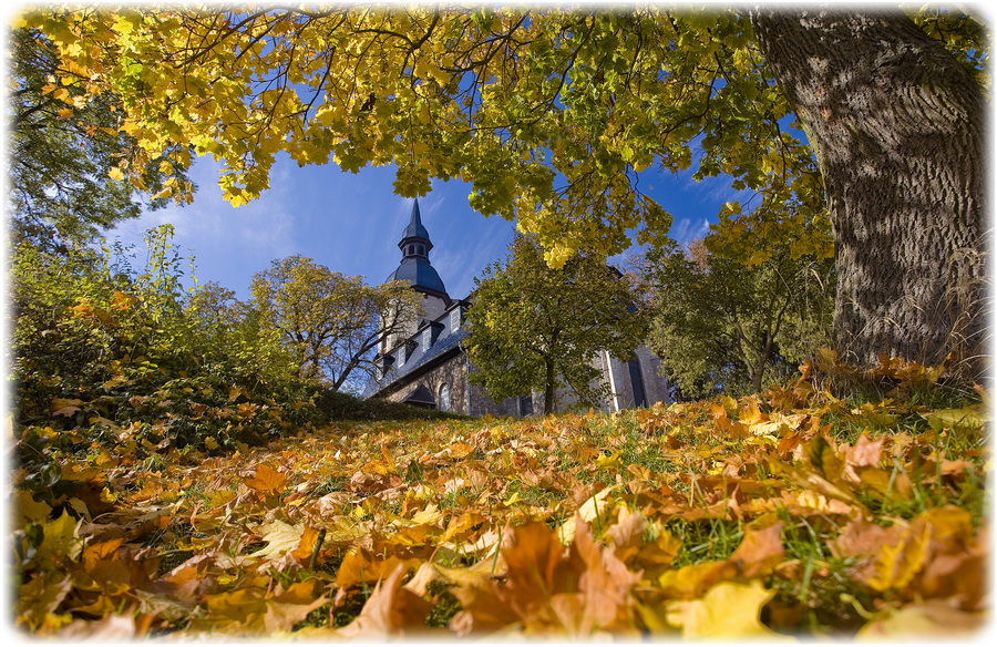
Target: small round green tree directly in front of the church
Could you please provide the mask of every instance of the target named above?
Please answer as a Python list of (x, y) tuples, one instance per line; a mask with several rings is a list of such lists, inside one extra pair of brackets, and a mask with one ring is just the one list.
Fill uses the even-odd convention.
[(542, 389), (546, 414), (566, 386), (595, 403), (606, 389), (596, 382), (595, 355), (629, 357), (644, 340), (629, 280), (595, 255), (554, 269), (535, 240), (518, 237), (505, 264), (475, 283), (464, 347), (476, 368), (471, 379), (495, 400)]

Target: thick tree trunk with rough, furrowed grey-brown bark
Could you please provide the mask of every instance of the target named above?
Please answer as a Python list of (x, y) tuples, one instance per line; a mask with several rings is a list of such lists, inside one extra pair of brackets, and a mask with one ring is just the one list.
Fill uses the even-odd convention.
[(898, 11), (753, 10), (813, 146), (834, 227), (834, 343), (872, 364), (984, 370), (985, 100)]

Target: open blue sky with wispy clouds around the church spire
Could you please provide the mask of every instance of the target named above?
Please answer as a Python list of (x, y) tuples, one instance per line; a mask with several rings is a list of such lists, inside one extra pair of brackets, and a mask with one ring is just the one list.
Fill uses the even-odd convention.
[[(393, 167), (368, 167), (354, 174), (335, 164), (298, 167), (280, 160), (273, 168), (270, 188), (240, 207), (222, 199), (218, 167), (210, 158), (199, 158), (192, 170), (198, 185), (193, 204), (122, 223), (107, 239), (134, 245), (141, 263), (143, 233), (169, 223), (182, 255), (196, 259), (197, 281), (217, 281), (243, 299), (248, 298), (255, 273), (292, 254), (335, 271), (363, 276), (369, 284), (383, 281), (398, 267), (397, 244), (409, 222), (412, 198), (394, 195)], [(738, 198), (721, 178), (696, 183), (683, 175), (644, 175), (650, 176), (641, 178), (641, 188), (672, 213), (672, 237), (679, 240), (701, 237), (720, 205)], [(436, 181), (419, 198), (434, 245), (430, 260), (455, 298), (466, 297), (474, 277), (505, 256), (514, 232), (513, 223), (471, 209), (470, 193), (469, 184)]]

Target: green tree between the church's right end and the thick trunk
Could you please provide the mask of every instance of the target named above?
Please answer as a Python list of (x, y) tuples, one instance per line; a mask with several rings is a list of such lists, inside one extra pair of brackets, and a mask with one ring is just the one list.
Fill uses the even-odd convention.
[(769, 247), (761, 263), (712, 254), (702, 240), (645, 255), (649, 346), (685, 397), (760, 392), (830, 340), (830, 259)]

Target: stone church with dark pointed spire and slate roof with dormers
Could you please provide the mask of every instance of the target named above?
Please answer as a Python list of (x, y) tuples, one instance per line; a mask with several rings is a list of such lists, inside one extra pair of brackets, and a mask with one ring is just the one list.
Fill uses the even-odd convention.
[[(472, 384), (469, 376), (474, 367), (467, 360), (462, 342), (467, 336), (464, 314), (470, 302), (451, 298), (429, 254), (433, 248), (422, 224), (419, 201), (412, 206), (408, 226), (398, 244), (402, 258), (387, 280), (405, 280), (423, 296), (425, 312), (391, 335), (378, 348), (377, 373), (364, 389), (364, 398), (386, 398), (415, 407), (452, 411), (465, 415), (513, 415), (522, 418), (543, 412), (543, 393), (524, 393), (495, 402), (483, 387)], [(609, 396), (599, 409), (621, 409), (668, 402), (668, 384), (658, 374), (659, 359), (646, 347), (634, 350), (627, 360), (600, 352), (593, 358)], [(578, 405), (567, 391), (557, 394), (557, 411)]]

